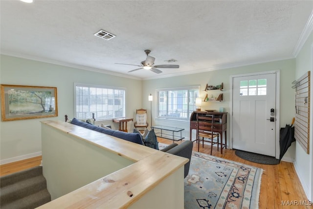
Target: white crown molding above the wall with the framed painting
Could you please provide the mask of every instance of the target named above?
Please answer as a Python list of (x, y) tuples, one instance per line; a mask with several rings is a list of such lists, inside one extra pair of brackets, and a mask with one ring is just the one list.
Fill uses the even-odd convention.
[(122, 74), (122, 73), (116, 73), (116, 72), (112, 72), (112, 71), (109, 71), (109, 70), (101, 70), (101, 69), (97, 69), (97, 68), (90, 68), (90, 67), (87, 67), (87, 66), (81, 66), (81, 65), (71, 64), (71, 63), (67, 63), (67, 62), (61, 62), (61, 61), (52, 60), (52, 59), (46, 59), (46, 58), (42, 58), (42, 57), (36, 57), (36, 56), (31, 56), (31, 55), (19, 54), (19, 53), (3, 51), (3, 50), (1, 50), (0, 54), (7, 55), (7, 56), (12, 56), (12, 57), (18, 57), (18, 58), (22, 58), (22, 59), (34, 60), (34, 61), (38, 61), (38, 62), (45, 62), (45, 63), (49, 63), (49, 64), (54, 64), (54, 65), (65, 66), (65, 67), (69, 67), (69, 68), (76, 68), (76, 69), (80, 69), (80, 70), (89, 70), (89, 71), (93, 71), (93, 72), (99, 72), (99, 73), (114, 75), (114, 76), (118, 76), (118, 77), (125, 77), (125, 78), (130, 78), (130, 79), (135, 79), (135, 80), (142, 80), (139, 77), (135, 77), (135, 76), (131, 76), (131, 75), (126, 75), (126, 74)]

